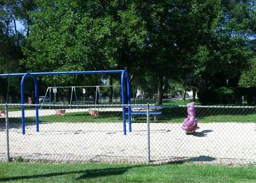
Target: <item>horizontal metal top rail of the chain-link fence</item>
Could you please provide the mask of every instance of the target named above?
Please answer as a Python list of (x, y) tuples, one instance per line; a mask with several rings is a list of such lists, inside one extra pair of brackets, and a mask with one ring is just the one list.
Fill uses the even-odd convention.
[(0, 106), (29, 106), (29, 107), (131, 107), (131, 108), (256, 108), (256, 106), (189, 106), (189, 105), (156, 105), (156, 104), (20, 104), (20, 103), (2, 103)]

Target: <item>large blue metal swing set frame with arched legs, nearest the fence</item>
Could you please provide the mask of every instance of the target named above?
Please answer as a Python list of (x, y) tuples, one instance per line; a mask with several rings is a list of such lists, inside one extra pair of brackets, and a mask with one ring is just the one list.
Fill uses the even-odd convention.
[[(35, 73), (15, 73), (15, 74), (0, 74), (0, 77), (22, 77), (21, 81), (21, 104), (22, 104), (22, 135), (25, 135), (25, 80), (28, 76), (32, 77), (35, 88), (35, 111), (36, 111), (36, 131), (39, 132), (39, 90), (38, 83), (35, 76), (39, 75), (89, 75), (89, 74), (121, 74), (121, 96), (122, 96), (122, 121), (123, 121), (123, 134), (126, 133), (126, 94), (127, 94), (127, 108), (128, 108), (128, 124), (129, 132), (132, 131), (131, 125), (131, 84), (127, 70), (99, 70), (99, 71), (68, 71), (68, 72), (35, 72)], [(125, 85), (125, 79), (127, 85)], [(126, 88), (126, 90), (125, 90)]]

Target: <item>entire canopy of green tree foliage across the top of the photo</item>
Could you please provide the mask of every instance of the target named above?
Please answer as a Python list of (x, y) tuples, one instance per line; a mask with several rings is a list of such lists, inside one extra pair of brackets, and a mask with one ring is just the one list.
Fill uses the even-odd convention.
[[(157, 90), (161, 103), (168, 80), (185, 90), (219, 88), (227, 80), (237, 86), (254, 56), (252, 0), (0, 0), (0, 5), (0, 72), (127, 68), (134, 87), (149, 96)], [(26, 30), (19, 32), (16, 20)], [(241, 86), (256, 84), (255, 61), (250, 62)], [(83, 81), (39, 77), (42, 88)], [(85, 81), (99, 84), (100, 77)]]

